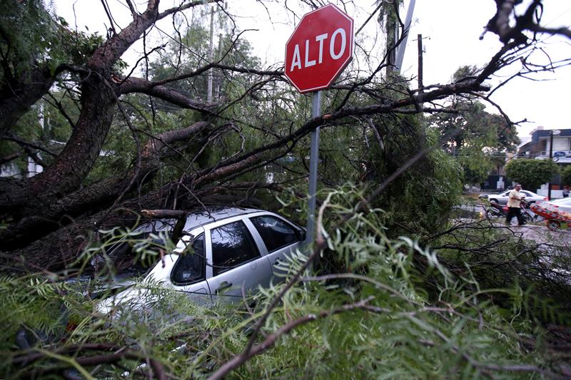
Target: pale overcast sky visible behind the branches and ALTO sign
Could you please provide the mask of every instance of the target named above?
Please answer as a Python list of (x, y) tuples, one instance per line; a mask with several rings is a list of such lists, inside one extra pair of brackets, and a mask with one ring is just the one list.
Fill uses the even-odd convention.
[[(124, 0), (106, 2), (115, 21), (120, 26), (126, 26), (130, 14)], [(143, 0), (136, 2), (146, 3)], [(163, 0), (161, 9), (173, 6), (176, 2)], [(332, 2), (336, 4), (335, 1)], [(405, 6), (408, 6), (408, 2), (405, 0)], [(104, 34), (109, 26), (101, 1), (53, 0), (53, 4), (57, 14), (64, 16), (69, 24), (77, 24), (80, 30), (85, 30), (85, 26), (88, 26), (90, 31), (100, 31)], [(285, 42), (299, 21), (298, 17), (308, 10), (293, 9), (293, 14), (291, 11), (285, 11), (283, 4), (284, 1), (278, 0), (269, 1), (266, 6), (255, 0), (228, 1), (228, 12), (237, 15), (238, 29), (255, 29), (243, 36), (253, 43), (256, 55), (268, 64), (283, 64)], [(355, 30), (363, 25), (370, 10), (374, 9), (373, 4), (374, 0), (355, 0), (345, 7), (349, 16), (355, 19)], [(543, 25), (571, 26), (570, 0), (545, 0), (544, 4)], [(288, 1), (288, 5), (292, 6), (293, 2)], [(142, 5), (140, 10), (143, 10)], [(486, 34), (482, 41), (479, 40), (483, 26), (494, 13), (493, 0), (417, 0), (403, 63), (403, 75), (415, 77), (418, 73), (418, 34), (423, 35), (425, 86), (448, 83), (460, 66), (485, 64), (501, 47), (497, 36), (493, 34)], [(193, 16), (197, 19), (208, 19), (202, 11), (196, 11)], [(403, 19), (404, 16), (405, 10)], [(171, 20), (161, 22), (159, 28), (161, 31), (155, 30), (157, 36), (165, 37), (163, 32), (171, 31)], [(375, 19), (372, 19), (355, 39), (380, 54), (383, 41), (380, 41), (378, 35), (378, 26)], [(137, 46), (133, 50), (125, 57), (126, 61), (136, 61)], [(552, 60), (571, 58), (571, 41), (550, 36), (545, 40), (545, 54), (538, 54), (536, 59), (546, 62), (547, 55)], [(513, 71), (508, 70), (500, 74), (507, 78), (512, 73)], [(512, 120), (527, 118), (530, 121), (518, 128), (520, 137), (529, 135), (531, 130), (540, 125), (545, 129), (571, 128), (567, 111), (570, 107), (567, 89), (571, 88), (571, 68), (562, 68), (556, 73), (546, 73), (535, 78), (541, 81), (516, 78), (494, 93), (492, 100), (500, 104)], [(501, 78), (494, 78), (490, 84), (494, 85), (500, 81)], [(491, 108), (489, 111), (493, 112)]]

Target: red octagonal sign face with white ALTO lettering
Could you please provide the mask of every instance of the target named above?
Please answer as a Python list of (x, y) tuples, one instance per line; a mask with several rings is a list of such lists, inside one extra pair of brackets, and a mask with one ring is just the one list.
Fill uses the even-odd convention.
[(305, 14), (285, 44), (285, 76), (300, 93), (328, 88), (353, 58), (353, 19), (333, 4)]

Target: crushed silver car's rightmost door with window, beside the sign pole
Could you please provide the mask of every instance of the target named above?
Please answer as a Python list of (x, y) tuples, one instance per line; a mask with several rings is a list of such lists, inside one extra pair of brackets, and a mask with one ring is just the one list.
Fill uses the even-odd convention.
[(300, 248), (305, 240), (304, 231), (278, 215), (256, 215), (249, 217), (248, 220), (265, 245), (274, 282), (282, 281), (287, 274), (285, 264), (288, 262), (288, 257)]

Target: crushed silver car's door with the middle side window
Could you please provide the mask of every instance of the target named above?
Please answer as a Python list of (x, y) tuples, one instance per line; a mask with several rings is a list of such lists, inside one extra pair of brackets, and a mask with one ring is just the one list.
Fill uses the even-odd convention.
[(213, 302), (237, 303), (267, 286), (271, 267), (242, 218), (206, 229), (206, 282)]

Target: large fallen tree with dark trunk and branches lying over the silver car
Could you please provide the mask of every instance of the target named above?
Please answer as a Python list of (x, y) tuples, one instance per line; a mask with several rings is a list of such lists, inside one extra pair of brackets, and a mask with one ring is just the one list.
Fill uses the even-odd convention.
[[(143, 76), (122, 73), (121, 56), (136, 41), (146, 42), (148, 31), (158, 21), (167, 17), (174, 21), (177, 15), (204, 6), (204, 1), (182, 1), (179, 6), (159, 9), (159, 3), (149, 0), (140, 11), (127, 1), (132, 21), (118, 31), (110, 15), (111, 28), (105, 39), (70, 31), (63, 21), (44, 10), (41, 1), (9, 1), (3, 5), (11, 7), (6, 13), (11, 18), (3, 17), (1, 26), (0, 131), (4, 134), (1, 138), (11, 142), (10, 147), (17, 147), (6, 157), (16, 157), (23, 146), (28, 150), (35, 146), (33, 141), (14, 145), (12, 132), (16, 131), (14, 122), (39, 98), (51, 99), (71, 124), (64, 147), (54, 153), (54, 158), (44, 157), (42, 173), (31, 178), (0, 179), (4, 269), (61, 269), (73, 261), (85, 242), (76, 236), (125, 222), (125, 209), (135, 215), (145, 208), (201, 205), (208, 195), (248, 190), (240, 183), (261, 182), (261, 173), (268, 165), (278, 165), (280, 170), (293, 173), (294, 178), (303, 178), (307, 174), (305, 154), (296, 149), (318, 127), (339, 130), (359, 125), (366, 148), (340, 149), (345, 152), (343, 159), (352, 166), (350, 173), (341, 177), (363, 181), (365, 185), (383, 180), (395, 173), (399, 163), (415, 150), (428, 144), (425, 125), (410, 115), (449, 112), (440, 102), (453, 95), (477, 94), (485, 98), (490, 90), (485, 81), (501, 68), (526, 57), (535, 48), (537, 36), (569, 34), (566, 29), (541, 26), (535, 10), (540, 9), (542, 1), (532, 2), (514, 25), (508, 22), (509, 16), (515, 14), (513, 2), (496, 1), (497, 14), (487, 29), (500, 36), (505, 45), (474, 76), (445, 85), (410, 88), (403, 85), (403, 78), (398, 75), (380, 76), (390, 61), (369, 57), (369, 63), (374, 65), (368, 73), (345, 73), (325, 100), (324, 114), (303, 119), (299, 115), (307, 114), (307, 102), (300, 101), (284, 86), (281, 68), (264, 68), (247, 56), (248, 48), (241, 44), (239, 34), (221, 40), (218, 58), (208, 59), (205, 53), (185, 66), (181, 58), (183, 42), (194, 36), (194, 29), (188, 27), (188, 33), (183, 35), (179, 25), (175, 31), (178, 55), (171, 55), (171, 68), (158, 64), (154, 71), (148, 68), (153, 53), (163, 49), (155, 46), (146, 47), (141, 57), (147, 62)], [(220, 1), (208, 3), (223, 9)], [(375, 11), (371, 9), (372, 14)], [(19, 56), (18, 44), (26, 36), (9, 28), (20, 19), (34, 17), (42, 22), (31, 36), (49, 32), (51, 44), (35, 46), (30, 56)], [(33, 44), (32, 40), (27, 43)], [(198, 40), (194, 43), (202, 43), (203, 47), (200, 37)], [(57, 51), (59, 55), (47, 51)], [(521, 70), (525, 73), (550, 68), (524, 64)], [(196, 95), (208, 73), (216, 73), (221, 89), (211, 102)], [(52, 88), (56, 82), (59, 91), (69, 97), (71, 106), (54, 101), (56, 91)], [(175, 116), (163, 109), (174, 110)], [(169, 117), (178, 119), (176, 123), (169, 122)], [(98, 163), (104, 144), (117, 125), (132, 136), (123, 146), (116, 145), (118, 150), (128, 150), (126, 156), (130, 159), (115, 175), (100, 175), (103, 178), (94, 180), (90, 176), (101, 169)], [(368, 138), (378, 148), (370, 148)], [(351, 139), (354, 136), (347, 137), (354, 143)], [(387, 150), (388, 146), (395, 150)], [(376, 149), (381, 154), (373, 154)], [(295, 165), (282, 163), (293, 153), (297, 157)], [(390, 161), (391, 156), (399, 154), (402, 157)], [(380, 162), (380, 157), (386, 158), (386, 162)], [(434, 166), (426, 163), (419, 173), (430, 173)], [(253, 188), (256, 186), (264, 187), (260, 183)], [(397, 199), (398, 194), (394, 193)], [(426, 211), (430, 205), (419, 207)]]

